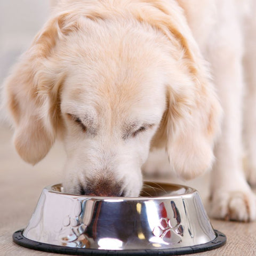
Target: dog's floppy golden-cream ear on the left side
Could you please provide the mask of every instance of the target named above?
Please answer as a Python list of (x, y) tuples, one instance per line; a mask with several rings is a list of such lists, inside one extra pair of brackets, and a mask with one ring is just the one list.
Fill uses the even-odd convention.
[(14, 121), (15, 148), (31, 164), (44, 158), (55, 140), (63, 74), (49, 60), (63, 36), (63, 18), (65, 15), (46, 23), (4, 84), (6, 106)]

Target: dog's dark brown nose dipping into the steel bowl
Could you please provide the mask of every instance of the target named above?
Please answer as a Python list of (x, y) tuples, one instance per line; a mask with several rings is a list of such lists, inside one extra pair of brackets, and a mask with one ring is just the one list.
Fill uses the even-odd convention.
[(86, 186), (79, 184), (79, 194), (86, 196), (125, 196), (121, 183), (111, 179), (90, 180)]

